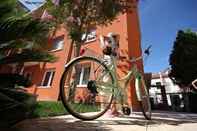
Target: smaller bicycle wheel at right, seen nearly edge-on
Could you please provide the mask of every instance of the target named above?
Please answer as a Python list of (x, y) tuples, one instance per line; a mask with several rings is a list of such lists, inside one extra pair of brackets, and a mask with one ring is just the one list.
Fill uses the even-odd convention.
[(137, 80), (136, 82), (139, 82), (138, 83), (139, 89), (136, 89), (136, 93), (138, 92), (137, 95), (138, 95), (138, 100), (140, 103), (142, 113), (147, 120), (151, 120), (151, 115), (152, 115), (151, 104), (150, 104), (149, 93), (145, 81), (142, 78), (142, 76), (140, 76), (140, 78), (136, 80)]

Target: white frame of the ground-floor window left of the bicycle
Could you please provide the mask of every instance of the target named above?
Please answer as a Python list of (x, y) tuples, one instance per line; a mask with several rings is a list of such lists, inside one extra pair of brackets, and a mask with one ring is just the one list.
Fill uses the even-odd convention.
[[(45, 79), (46, 79), (46, 74), (48, 73), (48, 72), (51, 72), (51, 74), (50, 74), (50, 77), (49, 77), (49, 81), (47, 82), (47, 85), (44, 85), (44, 81), (45, 81)], [(41, 88), (50, 88), (51, 86), (52, 86), (52, 81), (53, 81), (53, 79), (54, 79), (54, 75), (55, 75), (55, 69), (50, 69), (50, 70), (46, 70), (45, 72), (44, 72), (44, 76), (43, 76), (43, 78), (42, 78), (42, 82), (41, 82)]]

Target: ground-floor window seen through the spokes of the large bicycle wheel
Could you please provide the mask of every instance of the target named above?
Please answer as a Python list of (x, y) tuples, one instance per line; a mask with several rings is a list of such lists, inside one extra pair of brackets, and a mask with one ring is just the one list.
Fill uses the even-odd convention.
[(78, 85), (86, 85), (90, 77), (90, 66), (81, 66)]

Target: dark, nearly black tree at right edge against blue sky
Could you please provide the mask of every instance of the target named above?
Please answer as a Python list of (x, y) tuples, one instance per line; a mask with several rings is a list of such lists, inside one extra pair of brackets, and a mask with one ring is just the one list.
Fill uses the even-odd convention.
[(169, 76), (180, 86), (189, 85), (197, 78), (197, 34), (179, 30), (170, 54)]

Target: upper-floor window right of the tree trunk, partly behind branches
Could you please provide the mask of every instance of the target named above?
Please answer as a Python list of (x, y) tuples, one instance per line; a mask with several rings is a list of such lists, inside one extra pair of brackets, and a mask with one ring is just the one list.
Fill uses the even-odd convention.
[[(85, 38), (86, 38), (86, 40), (85, 40)], [(96, 40), (96, 29), (91, 29), (88, 34), (83, 34), (81, 39), (85, 40), (85, 43), (95, 41)]]

